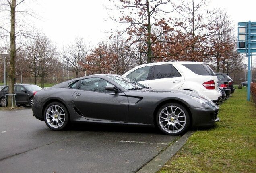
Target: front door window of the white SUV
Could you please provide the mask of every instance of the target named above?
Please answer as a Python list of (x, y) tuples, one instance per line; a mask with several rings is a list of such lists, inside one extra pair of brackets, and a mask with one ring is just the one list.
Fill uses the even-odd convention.
[(126, 77), (131, 80), (134, 80), (135, 82), (147, 80), (149, 75), (149, 69), (150, 69), (150, 66), (138, 68), (137, 70), (128, 74)]

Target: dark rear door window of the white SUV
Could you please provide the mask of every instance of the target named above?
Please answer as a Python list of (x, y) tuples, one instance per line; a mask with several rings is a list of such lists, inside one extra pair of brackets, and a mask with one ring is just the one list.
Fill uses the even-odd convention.
[(169, 64), (169, 65), (156, 65), (155, 68), (154, 68), (152, 79), (172, 77), (172, 74), (171, 74), (172, 66), (173, 65), (171, 65), (171, 64)]

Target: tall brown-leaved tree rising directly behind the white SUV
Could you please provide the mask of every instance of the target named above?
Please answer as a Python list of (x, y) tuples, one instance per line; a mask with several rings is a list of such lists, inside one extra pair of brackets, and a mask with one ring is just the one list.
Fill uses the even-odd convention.
[[(164, 16), (169, 12), (163, 10), (171, 0), (110, 0), (114, 8), (108, 8), (120, 12), (120, 18), (111, 17), (116, 22), (127, 24), (127, 27), (119, 34), (127, 34), (130, 46), (144, 45), (141, 52), (147, 56), (147, 63), (153, 58), (152, 46), (158, 42), (158, 38), (167, 34), (172, 28), (167, 24)], [(171, 6), (169, 6), (171, 7)], [(152, 33), (153, 28), (161, 28), (157, 35)], [(143, 42), (143, 43), (142, 43)], [(132, 50), (132, 48), (131, 48)]]

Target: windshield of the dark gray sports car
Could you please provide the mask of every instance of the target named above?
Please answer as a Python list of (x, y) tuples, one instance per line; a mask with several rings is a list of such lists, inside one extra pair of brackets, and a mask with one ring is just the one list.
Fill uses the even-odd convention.
[(108, 78), (114, 80), (116, 83), (120, 84), (122, 87), (124, 87), (127, 90), (131, 90), (131, 89), (143, 89), (145, 88), (144, 85), (139, 84), (137, 82), (134, 82), (132, 80), (130, 80), (129, 78), (126, 78), (124, 76), (120, 76), (120, 75), (108, 75)]

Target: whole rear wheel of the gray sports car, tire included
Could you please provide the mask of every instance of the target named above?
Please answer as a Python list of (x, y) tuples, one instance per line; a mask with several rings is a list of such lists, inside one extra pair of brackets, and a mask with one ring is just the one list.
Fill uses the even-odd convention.
[(52, 102), (48, 104), (45, 107), (43, 118), (46, 125), (54, 131), (61, 131), (68, 127), (69, 115), (66, 107), (62, 103)]

